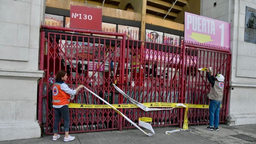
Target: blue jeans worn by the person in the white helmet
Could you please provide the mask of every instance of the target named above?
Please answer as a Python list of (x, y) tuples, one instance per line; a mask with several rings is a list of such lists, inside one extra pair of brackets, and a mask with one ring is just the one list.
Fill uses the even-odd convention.
[(209, 113), (210, 113), (210, 127), (219, 126), (219, 110), (221, 101), (210, 100)]

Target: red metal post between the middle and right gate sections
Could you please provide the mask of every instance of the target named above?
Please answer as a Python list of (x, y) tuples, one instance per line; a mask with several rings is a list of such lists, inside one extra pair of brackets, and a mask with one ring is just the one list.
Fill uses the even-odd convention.
[[(186, 45), (185, 43), (182, 44), (182, 64), (181, 64), (181, 95), (180, 95), (180, 103), (183, 103), (183, 95), (184, 95), (184, 75), (185, 75), (185, 62), (186, 62), (186, 57), (185, 57), (185, 49), (186, 49)], [(182, 117), (183, 117), (183, 109), (184, 108), (180, 108), (179, 109), (179, 127), (182, 127)]]

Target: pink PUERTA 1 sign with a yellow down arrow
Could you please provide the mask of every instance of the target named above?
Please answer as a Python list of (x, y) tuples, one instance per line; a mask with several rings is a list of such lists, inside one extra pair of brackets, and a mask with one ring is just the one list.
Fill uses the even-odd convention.
[(185, 12), (184, 40), (230, 47), (230, 24)]

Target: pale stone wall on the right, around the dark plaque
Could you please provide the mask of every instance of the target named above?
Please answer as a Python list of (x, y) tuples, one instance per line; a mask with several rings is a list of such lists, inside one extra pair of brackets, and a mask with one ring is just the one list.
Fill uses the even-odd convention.
[[(216, 2), (216, 6), (213, 3)], [(229, 124), (256, 123), (256, 44), (244, 41), (245, 7), (256, 9), (252, 0), (201, 0), (200, 14), (230, 23), (232, 74)], [(233, 90), (231, 88), (234, 88)]]

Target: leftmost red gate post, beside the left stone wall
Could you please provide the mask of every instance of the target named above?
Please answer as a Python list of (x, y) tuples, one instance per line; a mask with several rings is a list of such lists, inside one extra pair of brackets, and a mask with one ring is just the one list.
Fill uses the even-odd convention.
[[(43, 70), (43, 54), (44, 54), (44, 37), (45, 31), (41, 30), (40, 32), (40, 61), (39, 61), (39, 69)], [(39, 125), (42, 126), (42, 108), (43, 108), (43, 78), (40, 78), (39, 86), (38, 86), (38, 122)]]

